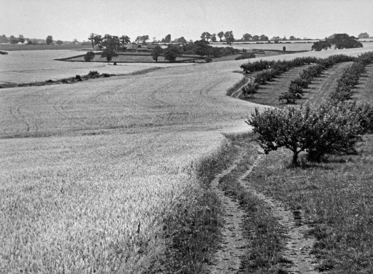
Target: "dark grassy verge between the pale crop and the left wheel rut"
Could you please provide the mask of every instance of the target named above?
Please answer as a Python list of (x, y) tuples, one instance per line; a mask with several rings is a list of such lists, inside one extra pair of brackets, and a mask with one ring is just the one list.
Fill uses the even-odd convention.
[[(215, 175), (235, 159), (237, 148), (230, 142), (195, 167), (201, 193), (185, 193), (173, 213), (164, 220), (167, 250), (148, 273), (208, 273), (219, 244), (223, 205), (209, 185)], [(194, 197), (194, 199), (190, 199)]]

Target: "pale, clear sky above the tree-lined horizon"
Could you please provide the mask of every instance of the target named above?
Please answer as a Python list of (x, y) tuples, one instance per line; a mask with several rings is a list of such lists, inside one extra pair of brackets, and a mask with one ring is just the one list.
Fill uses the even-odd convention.
[(0, 0), (0, 35), (88, 41), (91, 33), (150, 41), (233, 31), (323, 39), (373, 36), (373, 0)]

